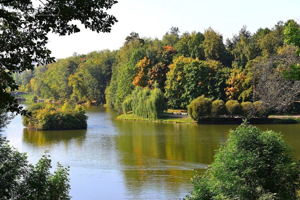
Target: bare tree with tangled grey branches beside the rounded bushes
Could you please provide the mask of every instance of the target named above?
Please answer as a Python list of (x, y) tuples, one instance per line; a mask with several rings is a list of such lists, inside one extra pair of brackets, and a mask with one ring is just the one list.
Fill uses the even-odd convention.
[(291, 65), (300, 63), (296, 52), (297, 47), (284, 46), (278, 54), (256, 64), (254, 98), (268, 105), (266, 111), (286, 113), (294, 102), (300, 102), (300, 81), (283, 76), (283, 72), (291, 70)]

